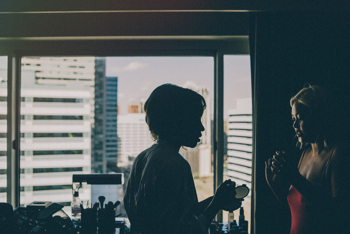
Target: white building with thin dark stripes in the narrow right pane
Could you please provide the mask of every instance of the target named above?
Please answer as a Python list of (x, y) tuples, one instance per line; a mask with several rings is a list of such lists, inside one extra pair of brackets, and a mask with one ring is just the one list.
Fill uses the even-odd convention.
[(227, 174), (237, 185), (251, 189), (252, 98), (237, 99), (237, 108), (228, 112)]

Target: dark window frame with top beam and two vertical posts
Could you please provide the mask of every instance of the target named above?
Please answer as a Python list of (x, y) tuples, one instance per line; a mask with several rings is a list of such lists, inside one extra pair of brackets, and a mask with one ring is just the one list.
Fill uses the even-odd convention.
[[(20, 88), (21, 57), (26, 56), (211, 56), (214, 58), (214, 186), (223, 182), (224, 55), (249, 55), (248, 36), (155, 36), (128, 39), (36, 38), (16, 41), (8, 56), (7, 86), (7, 202), (20, 206)], [(114, 47), (113, 47), (114, 45)], [(116, 46), (117, 45), (117, 46)], [(1, 46), (1, 42), (0, 42)], [(112, 49), (109, 48), (121, 48)], [(19, 49), (19, 48), (25, 48)], [(54, 48), (54, 49), (52, 49)], [(89, 50), (86, 50), (89, 48)], [(126, 49), (124, 49), (126, 48)], [(253, 183), (253, 181), (252, 181)], [(253, 212), (252, 212), (253, 216)], [(222, 212), (217, 215), (222, 221)]]

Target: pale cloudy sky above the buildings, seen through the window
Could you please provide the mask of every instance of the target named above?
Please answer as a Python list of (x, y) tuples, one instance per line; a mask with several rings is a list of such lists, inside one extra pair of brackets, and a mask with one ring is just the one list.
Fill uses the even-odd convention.
[[(7, 68), (7, 57), (0, 56), (0, 69)], [(214, 90), (213, 57), (106, 57), (106, 76), (118, 77), (118, 104), (120, 114), (127, 113), (130, 101), (147, 99), (161, 84), (183, 86), (187, 81)], [(3, 77), (5, 78), (5, 77)], [(236, 100), (251, 97), (249, 55), (224, 56), (224, 117), (236, 108)], [(211, 101), (211, 105), (212, 105)]]

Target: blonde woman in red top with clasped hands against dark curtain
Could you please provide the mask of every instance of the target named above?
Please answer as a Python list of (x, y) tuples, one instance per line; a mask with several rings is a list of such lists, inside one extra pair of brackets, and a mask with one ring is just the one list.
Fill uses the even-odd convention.
[(294, 156), (276, 152), (265, 168), (274, 194), (290, 207), (290, 233), (350, 233), (349, 151), (337, 140), (334, 102), (321, 87), (310, 86), (290, 99), (290, 106), (296, 137), (310, 147), (298, 166), (290, 163)]

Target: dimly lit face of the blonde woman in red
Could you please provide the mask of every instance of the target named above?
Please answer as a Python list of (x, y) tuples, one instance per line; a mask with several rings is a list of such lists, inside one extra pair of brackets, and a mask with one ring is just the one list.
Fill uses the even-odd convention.
[(314, 116), (307, 106), (294, 103), (292, 106), (293, 128), (300, 143), (315, 143), (317, 131)]

